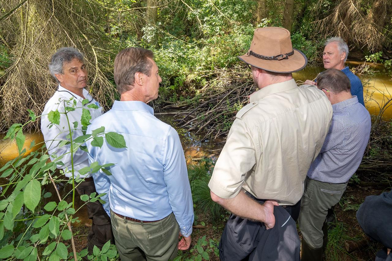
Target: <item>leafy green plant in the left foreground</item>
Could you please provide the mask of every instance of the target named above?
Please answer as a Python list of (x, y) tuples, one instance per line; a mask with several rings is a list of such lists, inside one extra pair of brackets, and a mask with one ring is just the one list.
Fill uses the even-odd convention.
[[(87, 255), (87, 249), (80, 252), (75, 249), (74, 235), (77, 231), (74, 225), (80, 222), (75, 214), (89, 201), (98, 200), (105, 203), (100, 199), (104, 194), (92, 193), (80, 196), (84, 202), (82, 206), (75, 209), (75, 188), (83, 179), (74, 174), (73, 154), (78, 149), (86, 150), (84, 144), (87, 140), (92, 140), (91, 145), (98, 147), (102, 147), (104, 138), (110, 146), (115, 148), (125, 148), (126, 145), (122, 135), (105, 132), (104, 127), (93, 130), (92, 134), (86, 134), (91, 115), (85, 107), (98, 109), (97, 105), (87, 105), (89, 103), (87, 99), (82, 101), (82, 108), (76, 107), (74, 98), (60, 102), (64, 103), (65, 112), (51, 111), (43, 117), (48, 117), (51, 122), (49, 127), (56, 127), (55, 125), (60, 124), (60, 115), (65, 114), (68, 128), (64, 131), (67, 132), (67, 137), (65, 140), (54, 140), (54, 142), (58, 143), (58, 148), (70, 146), (69, 152), (64, 155), (52, 154), (52, 161), (50, 161), (45, 145), (42, 143), (37, 144), (41, 146), (41, 149), (27, 155), (24, 149), (26, 137), (23, 134), (23, 128), (41, 117), (36, 116), (31, 110), (28, 110), (31, 119), (25, 124), (13, 124), (4, 138), (15, 140), (19, 155), (5, 163), (0, 169), (0, 178), (3, 183), (0, 185), (0, 199), (2, 199), (0, 200), (0, 259), (2, 260), (80, 260), (81, 257)], [(82, 126), (78, 126), (78, 122), (70, 123), (68, 120), (69, 112), (75, 109), (82, 109), (80, 121)], [(74, 130), (77, 128), (82, 129), (83, 135), (74, 137)], [(32, 141), (30, 149), (34, 146), (36, 145)], [(71, 178), (66, 178), (62, 175), (64, 171), (57, 169), (57, 165), (64, 165), (61, 160), (66, 154), (71, 154)], [(79, 172), (80, 174), (93, 174), (101, 170), (111, 175), (110, 168), (113, 165), (112, 163), (100, 165), (98, 162), (93, 162)], [(72, 184), (72, 188), (62, 197), (58, 187), (64, 183)], [(53, 186), (56, 191), (53, 201), (47, 202), (49, 198), (52, 198), (51, 192), (45, 192), (47, 186)], [(71, 198), (71, 195), (72, 201), (68, 202), (66, 199)], [(110, 241), (103, 246), (102, 250), (94, 246), (93, 254), (88, 255), (90, 260), (115, 260), (117, 257), (116, 246), (111, 245)]]

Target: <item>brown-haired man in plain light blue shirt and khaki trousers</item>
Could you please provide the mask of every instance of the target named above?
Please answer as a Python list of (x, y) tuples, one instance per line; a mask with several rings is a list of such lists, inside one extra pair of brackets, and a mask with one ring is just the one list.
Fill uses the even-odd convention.
[(120, 101), (96, 118), (87, 133), (103, 126), (105, 132), (121, 134), (127, 147), (87, 142), (90, 163), (115, 163), (113, 175), (93, 174), (96, 190), (106, 193), (103, 207), (122, 260), (174, 259), (177, 249), (191, 243), (193, 203), (180, 138), (147, 105), (158, 97), (162, 81), (152, 52), (122, 50), (114, 60), (114, 80)]

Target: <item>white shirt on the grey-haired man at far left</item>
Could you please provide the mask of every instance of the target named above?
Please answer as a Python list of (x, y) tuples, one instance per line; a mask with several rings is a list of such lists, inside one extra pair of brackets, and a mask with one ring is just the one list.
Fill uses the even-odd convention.
[[(70, 111), (67, 113), (69, 119), (69, 125), (71, 126), (71, 130), (72, 130), (73, 140), (83, 135), (82, 123), (80, 122), (83, 108), (88, 109), (90, 111), (91, 114), (90, 122), (93, 121), (98, 116), (102, 115), (103, 113), (103, 108), (100, 107), (99, 103), (96, 100), (94, 100), (94, 98), (85, 89), (83, 89), (83, 96), (90, 101), (84, 106), (82, 105), (82, 101), (83, 101), (82, 97), (78, 96), (77, 94), (74, 94), (73, 92), (68, 91), (67, 89), (65, 89), (59, 84), (57, 91), (47, 101), (47, 103), (45, 104), (44, 111), (41, 114), (42, 115), (41, 131), (42, 134), (44, 135), (44, 140), (48, 150), (48, 154), (51, 160), (55, 159), (54, 155), (61, 156), (65, 154), (64, 158), (60, 159), (60, 161), (62, 161), (64, 165), (58, 164), (57, 167), (58, 169), (63, 169), (64, 174), (67, 177), (72, 176), (71, 153), (67, 153), (71, 151), (71, 145), (67, 144), (62, 147), (58, 147), (58, 144), (62, 140), (69, 140), (69, 138), (66, 137), (67, 135), (69, 135), (67, 118), (65, 114), (61, 114), (61, 112), (65, 112), (64, 108), (66, 106), (73, 107), (74, 100), (76, 100), (76, 106), (74, 106), (76, 107), (75, 111)], [(98, 109), (87, 107), (90, 104), (97, 105)], [(52, 127), (50, 127), (52, 123), (49, 121), (47, 114), (51, 111), (56, 111), (56, 110), (60, 112), (60, 124), (53, 125)], [(77, 124), (76, 128), (74, 127), (74, 124), (75, 125)], [(87, 156), (87, 152), (81, 149), (76, 150), (76, 152), (74, 152), (73, 154), (73, 163), (74, 163), (74, 176), (76, 178), (78, 175), (80, 175), (78, 170), (89, 166), (89, 158)], [(81, 178), (86, 178), (90, 176), (91, 176), (90, 174), (80, 175)]]

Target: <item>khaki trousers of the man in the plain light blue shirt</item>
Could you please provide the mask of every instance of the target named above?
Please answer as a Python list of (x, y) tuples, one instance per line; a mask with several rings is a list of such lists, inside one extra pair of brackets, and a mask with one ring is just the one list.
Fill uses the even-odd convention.
[(152, 223), (140, 223), (110, 212), (116, 246), (122, 261), (168, 261), (177, 256), (180, 227), (170, 214)]

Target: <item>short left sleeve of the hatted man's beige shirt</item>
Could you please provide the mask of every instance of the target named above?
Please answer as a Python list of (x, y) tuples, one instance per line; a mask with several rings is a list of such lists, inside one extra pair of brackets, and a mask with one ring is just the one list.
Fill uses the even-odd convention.
[(208, 186), (220, 198), (234, 198), (241, 191), (245, 175), (255, 164), (256, 150), (250, 130), (244, 121), (236, 119)]

